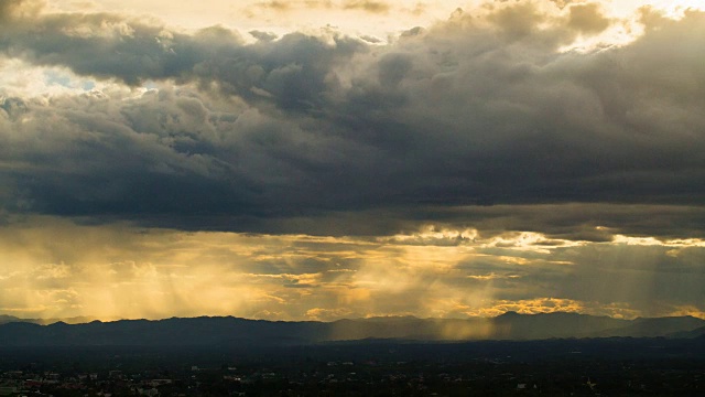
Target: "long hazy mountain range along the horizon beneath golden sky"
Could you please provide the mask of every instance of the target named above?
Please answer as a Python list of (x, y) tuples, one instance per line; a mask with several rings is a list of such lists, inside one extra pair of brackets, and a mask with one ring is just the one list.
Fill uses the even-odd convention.
[[(9, 321), (13, 319), (17, 321)], [(474, 341), (705, 334), (705, 320), (692, 316), (619, 320), (577, 313), (507, 312), (496, 318), (463, 320), (391, 316), (335, 322), (232, 316), (47, 325), (11, 316), (2, 316), (0, 321), (4, 322), (0, 324), (0, 346), (284, 346), (371, 339)]]

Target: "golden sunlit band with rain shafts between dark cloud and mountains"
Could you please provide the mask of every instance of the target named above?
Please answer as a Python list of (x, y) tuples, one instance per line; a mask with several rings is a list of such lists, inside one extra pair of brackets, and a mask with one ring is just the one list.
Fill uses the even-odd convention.
[[(673, 267), (688, 271), (692, 283), (702, 282), (702, 264), (694, 260), (702, 260), (705, 250), (696, 246), (582, 243), (529, 250), (509, 245), (491, 253), (487, 249), (496, 248), (481, 239), (400, 245), (393, 236), (370, 243), (365, 237), (148, 232), (53, 218), (14, 224), (2, 237), (0, 260), (12, 264), (13, 271), (0, 278), (0, 301), (3, 312), (21, 316), (212, 314), (329, 321), (401, 314), (494, 316), (505, 311), (702, 316), (703, 311), (688, 303), (701, 293), (690, 288), (670, 297), (670, 303), (663, 300), (663, 291), (683, 283), (680, 277), (658, 276)], [(631, 251), (620, 254), (620, 247)], [(661, 254), (636, 255), (653, 248)], [(674, 256), (673, 249), (691, 251)], [(633, 259), (631, 265), (625, 257)], [(639, 262), (640, 257), (653, 259)], [(659, 258), (671, 258), (671, 264), (661, 265)], [(640, 281), (647, 271), (655, 271), (665, 290)], [(616, 288), (612, 281), (619, 294), (590, 287), (597, 282)], [(553, 298), (532, 298), (549, 294)], [(654, 297), (661, 297), (660, 305), (653, 305)]]

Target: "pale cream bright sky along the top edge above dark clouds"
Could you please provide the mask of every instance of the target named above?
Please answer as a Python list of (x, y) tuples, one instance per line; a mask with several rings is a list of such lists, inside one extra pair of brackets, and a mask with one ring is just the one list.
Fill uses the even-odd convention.
[[(554, 0), (558, 4), (588, 1)], [(664, 10), (677, 17), (684, 10), (704, 9), (701, 0), (597, 1), (617, 18), (633, 15), (641, 7)], [(485, 8), (487, 1), (357, 1), (357, 0), (205, 0), (173, 2), (166, 0), (50, 0), (51, 10), (59, 12), (116, 12), (150, 17), (170, 25), (198, 29), (221, 24), (242, 32), (267, 30), (282, 34), (291, 31), (315, 31), (334, 28), (348, 34), (387, 37), (414, 26), (429, 26), (447, 20), (458, 8), (473, 12)]]

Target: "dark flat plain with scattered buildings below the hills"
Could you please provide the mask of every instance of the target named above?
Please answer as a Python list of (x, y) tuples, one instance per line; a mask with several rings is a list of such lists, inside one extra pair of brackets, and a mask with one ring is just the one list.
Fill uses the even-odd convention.
[(705, 396), (705, 339), (0, 350), (9, 396)]

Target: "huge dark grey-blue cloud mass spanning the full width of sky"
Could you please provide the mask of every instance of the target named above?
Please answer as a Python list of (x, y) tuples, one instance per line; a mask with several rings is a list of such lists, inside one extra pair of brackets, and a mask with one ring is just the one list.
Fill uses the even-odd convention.
[[(7, 211), (239, 230), (375, 234), (458, 216), (589, 240), (611, 238), (597, 226), (703, 234), (701, 12), (644, 18), (659, 29), (581, 53), (558, 49), (609, 25), (592, 4), (552, 19), (521, 2), (384, 46), (301, 33), (246, 44), (224, 28), (9, 4), (6, 56), (180, 88), (3, 99)], [(381, 219), (330, 221), (369, 214)]]

